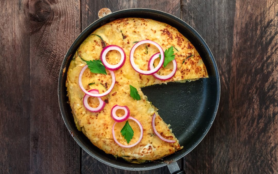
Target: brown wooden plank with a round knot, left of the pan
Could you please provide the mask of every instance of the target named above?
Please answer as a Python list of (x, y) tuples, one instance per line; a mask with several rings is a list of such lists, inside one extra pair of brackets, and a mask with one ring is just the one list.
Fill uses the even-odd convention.
[(80, 173), (80, 147), (58, 105), (58, 75), (81, 31), (80, 1), (29, 1), (31, 173)]

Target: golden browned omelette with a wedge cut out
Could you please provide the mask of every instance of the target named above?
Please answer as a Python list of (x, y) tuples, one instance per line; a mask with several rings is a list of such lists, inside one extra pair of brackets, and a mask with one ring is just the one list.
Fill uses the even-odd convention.
[[(177, 72), (169, 80), (158, 80), (152, 75), (142, 75), (133, 70), (129, 61), (129, 54), (132, 46), (141, 40), (152, 40), (158, 43), (163, 50), (174, 47), (175, 60), (177, 62)], [(126, 53), (126, 61), (119, 70), (115, 70), (116, 83), (112, 91), (101, 97), (106, 105), (100, 112), (90, 112), (83, 105), (84, 92), (78, 85), (78, 76), (81, 69), (86, 65), (85, 61), (98, 60), (104, 45), (118, 45)], [(134, 53), (136, 65), (147, 70), (148, 60), (157, 53), (158, 49), (152, 44), (140, 45)], [(116, 64), (120, 60), (117, 51), (111, 51), (106, 55), (106, 60), (110, 64)], [(159, 58), (154, 61), (154, 66), (159, 62)], [(169, 74), (173, 64), (170, 62), (165, 68), (159, 70), (159, 74)], [(82, 84), (86, 90), (98, 89), (100, 93), (105, 92), (111, 86), (111, 76), (108, 70), (105, 74), (91, 73), (86, 69)], [(141, 89), (142, 87), (162, 84), (167, 82), (185, 82), (187, 80), (197, 80), (207, 78), (207, 70), (195, 47), (172, 26), (143, 18), (123, 18), (107, 23), (95, 30), (76, 51), (70, 63), (66, 81), (68, 90), (69, 104), (72, 109), (78, 130), (90, 139), (90, 141), (105, 151), (116, 157), (122, 157), (133, 163), (144, 163), (160, 159), (170, 155), (183, 147), (180, 146), (175, 138), (170, 125), (167, 125), (157, 112), (157, 108), (148, 101)], [(130, 97), (130, 86), (138, 90), (140, 100)], [(94, 97), (89, 97), (88, 102), (92, 107), (97, 103)], [(95, 106), (94, 106), (95, 105)], [(143, 138), (139, 144), (131, 148), (123, 148), (115, 143), (112, 136), (112, 126), (114, 120), (110, 116), (110, 111), (114, 105), (128, 106), (130, 116), (136, 118), (143, 126)], [(152, 116), (156, 114), (155, 127), (158, 133), (166, 138), (176, 140), (175, 143), (167, 143), (155, 135), (152, 128)], [(135, 143), (140, 136), (138, 125), (129, 120), (129, 124), (134, 131), (130, 143)], [(125, 122), (115, 125), (116, 139), (124, 145), (128, 145), (120, 131)]]

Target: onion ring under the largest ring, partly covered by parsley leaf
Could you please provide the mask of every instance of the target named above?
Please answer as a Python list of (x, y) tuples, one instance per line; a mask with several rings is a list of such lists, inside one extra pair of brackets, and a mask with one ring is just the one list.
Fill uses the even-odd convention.
[[(149, 70), (153, 69), (153, 62), (155, 61), (156, 58), (158, 58), (159, 55), (160, 55), (160, 53), (155, 53), (150, 58), (149, 63), (148, 63), (148, 69)], [(173, 62), (173, 66), (174, 67), (173, 67), (173, 71), (170, 74), (168, 74), (168, 75), (159, 75), (158, 73), (154, 73), (154, 74), (152, 74), (153, 77), (155, 77), (158, 80), (168, 80), (168, 79), (171, 79), (175, 75), (175, 73), (177, 71), (177, 61), (174, 59), (174, 60), (172, 60), (172, 62)]]

